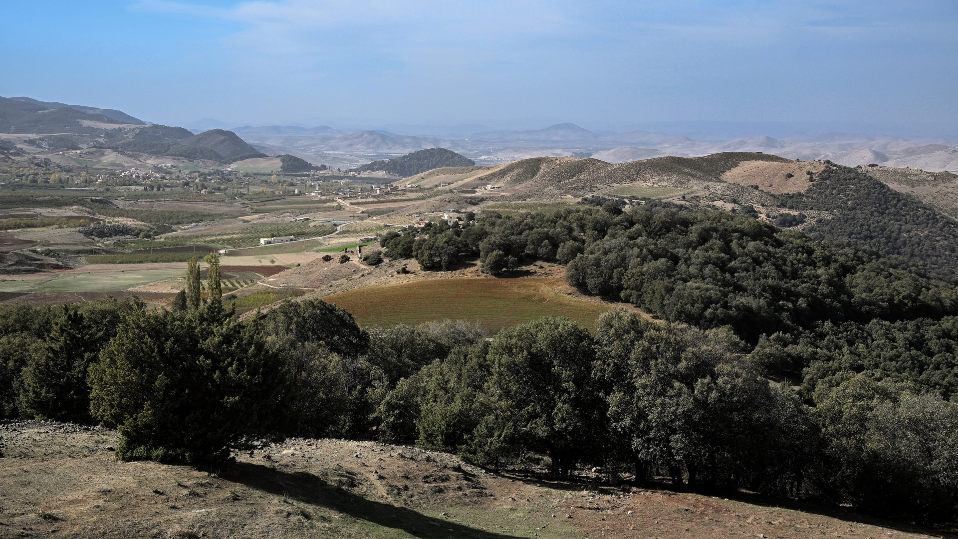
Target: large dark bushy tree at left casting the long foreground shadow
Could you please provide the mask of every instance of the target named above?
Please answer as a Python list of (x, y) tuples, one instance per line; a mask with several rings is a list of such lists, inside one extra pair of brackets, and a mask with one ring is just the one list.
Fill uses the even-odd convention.
[(126, 316), (90, 385), (90, 410), (119, 430), (124, 460), (226, 461), (287, 426), (282, 356), (218, 302)]

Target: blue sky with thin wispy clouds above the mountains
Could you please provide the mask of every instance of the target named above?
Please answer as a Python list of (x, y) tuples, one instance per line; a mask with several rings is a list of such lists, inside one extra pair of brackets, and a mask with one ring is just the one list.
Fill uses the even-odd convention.
[(0, 12), (0, 96), (167, 125), (958, 131), (955, 0), (0, 0)]

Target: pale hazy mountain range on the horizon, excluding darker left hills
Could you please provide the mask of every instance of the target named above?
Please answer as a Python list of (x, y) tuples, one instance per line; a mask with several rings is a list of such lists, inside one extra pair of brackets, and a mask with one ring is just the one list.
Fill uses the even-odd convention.
[(881, 134), (829, 132), (809, 135), (796, 132), (793, 133), (794, 139), (756, 136), (717, 141), (645, 130), (597, 133), (570, 123), (545, 129), (483, 131), (455, 139), (401, 135), (383, 130), (333, 129), (329, 126), (312, 129), (245, 126), (233, 130), (264, 152), (292, 152), (314, 162), (323, 162), (336, 154), (337, 158), (351, 155), (358, 164), (380, 158), (380, 155), (445, 148), (467, 155), (480, 164), (588, 154), (609, 163), (623, 163), (666, 155), (689, 157), (717, 152), (765, 152), (790, 159), (831, 159), (850, 166), (876, 163), (929, 171), (958, 170), (958, 142), (908, 140)]

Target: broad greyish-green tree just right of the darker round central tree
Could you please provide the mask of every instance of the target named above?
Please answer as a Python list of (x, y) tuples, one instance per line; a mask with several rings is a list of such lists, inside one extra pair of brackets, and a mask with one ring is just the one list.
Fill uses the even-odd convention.
[(620, 310), (601, 318), (597, 341), (610, 424), (639, 477), (658, 465), (676, 485), (761, 482), (776, 400), (741, 358), (740, 340)]

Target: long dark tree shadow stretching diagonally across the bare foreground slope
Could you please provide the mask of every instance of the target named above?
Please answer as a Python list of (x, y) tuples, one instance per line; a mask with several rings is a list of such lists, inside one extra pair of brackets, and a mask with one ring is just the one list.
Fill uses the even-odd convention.
[(308, 472), (286, 472), (249, 462), (237, 463), (233, 472), (236, 477), (231, 478), (232, 480), (250, 488), (326, 507), (381, 527), (401, 529), (423, 539), (446, 538), (450, 535), (479, 539), (514, 539), (512, 535), (428, 517), (409, 507), (368, 500)]

